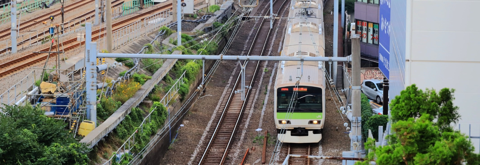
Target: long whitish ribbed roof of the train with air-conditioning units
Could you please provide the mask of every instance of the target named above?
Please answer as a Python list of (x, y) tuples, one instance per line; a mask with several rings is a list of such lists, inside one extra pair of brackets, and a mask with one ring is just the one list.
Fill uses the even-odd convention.
[[(322, 4), (322, 0), (291, 1), (281, 56), (325, 57)], [(303, 62), (300, 85), (324, 87), (324, 70), (320, 64), (323, 62)], [(300, 61), (281, 61), (276, 87), (293, 86), (300, 75)]]

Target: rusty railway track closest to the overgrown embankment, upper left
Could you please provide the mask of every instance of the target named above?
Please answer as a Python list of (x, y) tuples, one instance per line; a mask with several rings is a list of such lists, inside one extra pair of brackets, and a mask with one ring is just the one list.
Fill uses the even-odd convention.
[[(130, 19), (126, 19), (126, 20), (120, 21), (118, 23), (112, 24), (112, 32), (115, 31), (115, 30), (118, 30), (118, 29), (120, 29), (120, 28), (122, 28), (122, 27), (124, 27), (128, 24), (136, 22), (138, 20), (143, 20), (144, 18), (146, 18), (150, 15), (153, 15), (157, 12), (167, 10), (167, 9), (171, 9), (171, 7), (172, 7), (172, 4), (166, 4), (164, 6), (154, 8), (154, 9), (151, 9), (147, 12), (142, 13), (142, 14), (133, 16)], [(92, 41), (96, 41), (98, 38), (106, 35), (105, 30), (106, 30), (105, 28), (101, 28), (101, 29), (98, 29), (96, 31), (93, 31), (92, 32)], [(100, 33), (100, 31), (102, 33)], [(59, 45), (63, 45), (62, 46), (63, 50), (65, 52), (67, 52), (67, 51), (69, 51), (73, 48), (79, 47), (80, 44), (84, 45), (84, 43), (85, 43), (85, 41), (82, 41), (80, 43), (80, 42), (77, 41), (77, 38), (74, 37), (72, 39), (68, 39), (68, 40), (62, 42)], [(56, 48), (57, 48), (56, 46), (53, 46), (52, 50), (56, 50)], [(50, 47), (46, 47), (44, 49), (38, 50), (37, 52), (47, 52), (49, 49), (50, 49)], [(51, 55), (51, 57), (55, 57), (55, 56), (56, 56), (55, 54)], [(48, 57), (48, 53), (30, 53), (30, 54), (25, 55), (23, 57), (13, 59), (11, 61), (0, 64), (0, 77), (7, 76), (9, 74), (12, 74), (15, 71), (19, 71), (19, 70), (21, 70), (21, 69), (23, 69), (27, 66), (30, 66), (30, 65), (35, 64), (37, 62), (45, 60), (45, 59), (47, 59), (47, 57)]]

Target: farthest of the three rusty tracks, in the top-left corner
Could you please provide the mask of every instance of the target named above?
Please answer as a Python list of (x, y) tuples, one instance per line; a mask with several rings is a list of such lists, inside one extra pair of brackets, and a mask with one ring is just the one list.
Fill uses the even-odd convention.
[[(77, 9), (79, 7), (82, 7), (82, 6), (84, 6), (84, 5), (86, 5), (90, 2), (93, 2), (93, 1), (95, 1), (95, 0), (84, 0), (84, 1), (81, 1), (80, 3), (72, 3), (70, 5), (64, 6), (63, 9), (64, 9), (65, 12), (70, 12), (72, 10), (75, 10), (75, 9)], [(25, 21), (23, 23), (20, 23), (20, 28), (18, 30), (19, 31), (25, 30), (27, 28), (30, 28), (30, 27), (36, 25), (36, 24), (40, 24), (41, 22), (48, 20), (50, 15), (53, 15), (55, 17), (61, 15), (60, 9), (57, 9), (57, 10), (52, 11), (52, 12), (48, 12), (48, 13), (43, 14), (41, 16), (35, 17), (35, 18), (30, 19), (28, 21)], [(10, 36), (11, 29), (12, 28), (9, 27), (9, 28), (1, 30), (0, 31), (0, 39), (4, 39), (5, 37)]]

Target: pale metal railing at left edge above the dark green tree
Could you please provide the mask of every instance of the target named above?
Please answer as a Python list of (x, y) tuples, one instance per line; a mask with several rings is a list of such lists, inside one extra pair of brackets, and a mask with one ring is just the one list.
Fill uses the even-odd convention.
[(4, 107), (3, 104), (13, 105), (20, 101), (28, 93), (28, 89), (33, 89), (35, 85), (36, 75), (35, 71), (30, 72), (20, 82), (15, 83), (12, 87), (7, 89), (0, 95), (0, 108)]

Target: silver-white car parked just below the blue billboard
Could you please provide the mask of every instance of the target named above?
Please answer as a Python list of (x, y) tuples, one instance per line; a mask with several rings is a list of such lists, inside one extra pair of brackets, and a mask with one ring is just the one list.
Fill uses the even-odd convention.
[(376, 79), (363, 80), (361, 82), (361, 92), (380, 104), (384, 101), (384, 84), (382, 82), (382, 80)]

